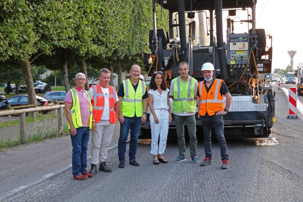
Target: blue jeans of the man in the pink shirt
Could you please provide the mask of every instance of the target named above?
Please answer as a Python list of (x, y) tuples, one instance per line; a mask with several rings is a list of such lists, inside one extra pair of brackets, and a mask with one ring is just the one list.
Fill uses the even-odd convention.
[(87, 144), (89, 139), (89, 127), (77, 128), (77, 134), (71, 135), (73, 156), (72, 156), (72, 173), (76, 177), (81, 173), (84, 174), (87, 167)]

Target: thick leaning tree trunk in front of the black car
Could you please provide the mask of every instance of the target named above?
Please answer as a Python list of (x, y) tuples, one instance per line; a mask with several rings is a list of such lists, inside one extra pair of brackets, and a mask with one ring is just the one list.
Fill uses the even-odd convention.
[(22, 72), (24, 75), (24, 80), (25, 80), (27, 94), (28, 94), (28, 104), (29, 105), (37, 104), (33, 77), (31, 75), (31, 71), (30, 71), (30, 62), (28, 59), (26, 59), (26, 60), (19, 60), (18, 63), (21, 66)]

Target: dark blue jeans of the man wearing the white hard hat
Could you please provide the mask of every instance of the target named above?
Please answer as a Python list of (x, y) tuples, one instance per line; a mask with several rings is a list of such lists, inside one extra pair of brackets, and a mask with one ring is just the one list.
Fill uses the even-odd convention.
[(223, 116), (209, 116), (207, 113), (201, 116), (201, 125), (204, 133), (204, 150), (205, 157), (212, 158), (212, 125), (214, 126), (214, 131), (219, 141), (219, 146), (221, 150), (221, 160), (228, 160), (227, 144), (224, 137), (224, 123)]

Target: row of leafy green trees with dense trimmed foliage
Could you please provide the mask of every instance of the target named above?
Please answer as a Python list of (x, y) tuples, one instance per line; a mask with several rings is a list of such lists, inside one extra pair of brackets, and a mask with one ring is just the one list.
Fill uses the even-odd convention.
[[(141, 62), (140, 42), (148, 41), (152, 27), (151, 2), (0, 0), (0, 73), (22, 70), (29, 104), (36, 103), (33, 65), (61, 72), (66, 91), (69, 70), (87, 75), (87, 65), (117, 72), (120, 82), (123, 71)], [(157, 26), (167, 30), (167, 11), (162, 16)]]

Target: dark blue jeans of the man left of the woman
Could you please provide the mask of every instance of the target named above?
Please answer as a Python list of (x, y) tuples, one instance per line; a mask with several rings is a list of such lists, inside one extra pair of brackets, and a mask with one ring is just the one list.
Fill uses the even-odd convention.
[(120, 137), (118, 142), (119, 161), (125, 162), (126, 141), (130, 129), (129, 161), (136, 159), (138, 136), (141, 126), (141, 117), (124, 117), (124, 123), (120, 123)]

